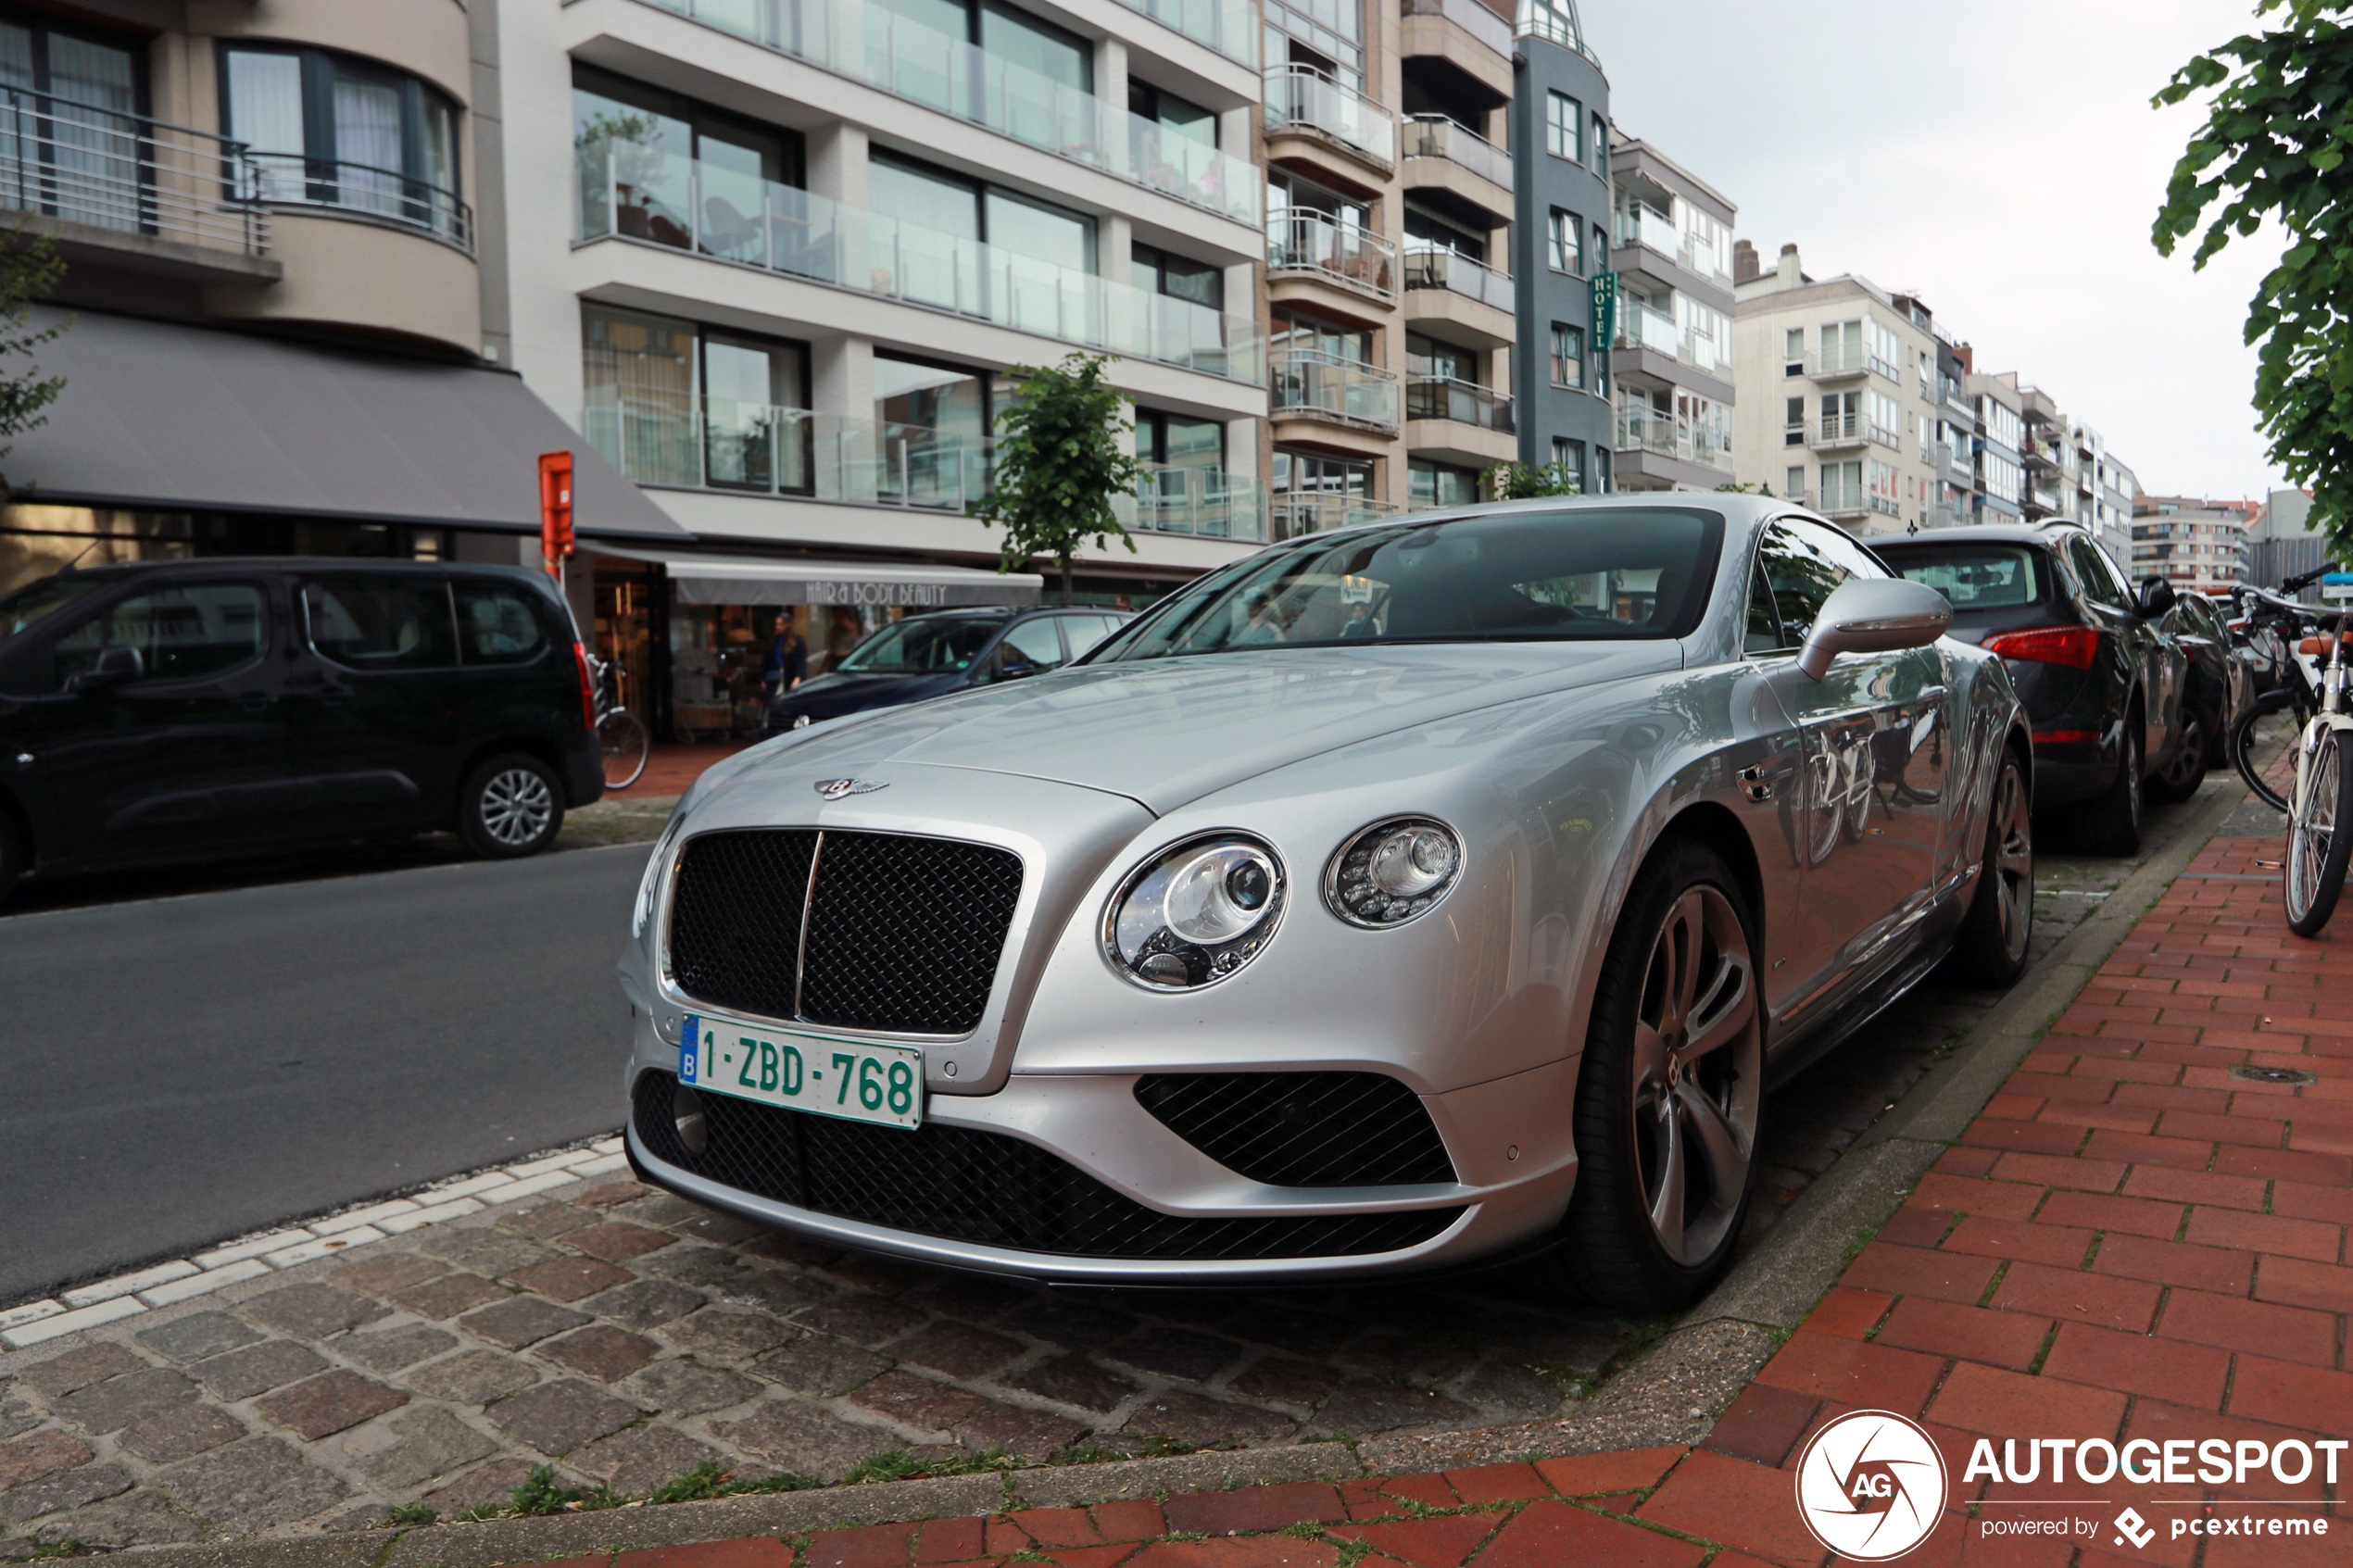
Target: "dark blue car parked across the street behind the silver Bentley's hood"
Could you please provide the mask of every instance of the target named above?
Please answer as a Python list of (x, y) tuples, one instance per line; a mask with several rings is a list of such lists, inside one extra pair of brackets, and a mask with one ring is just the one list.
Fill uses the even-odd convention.
[(892, 621), (824, 675), (767, 703), (767, 733), (1045, 675), (1134, 616), (1125, 609), (934, 609)]

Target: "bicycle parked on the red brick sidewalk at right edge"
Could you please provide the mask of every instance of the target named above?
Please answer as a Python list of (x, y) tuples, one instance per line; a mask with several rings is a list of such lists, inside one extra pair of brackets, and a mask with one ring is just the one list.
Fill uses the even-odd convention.
[[(2308, 588), (2320, 574), (2289, 578), (2287, 592)], [(2344, 893), (2346, 860), (2353, 858), (2353, 703), (2346, 682), (2348, 628), (2353, 616), (2318, 616), (2308, 607), (2261, 588), (2242, 590), (2249, 599), (2249, 632), (2261, 628), (2275, 639), (2287, 668), (2287, 682), (2266, 691), (2231, 736), (2231, 762), (2254, 792), (2287, 811), (2287, 858), (2282, 893), (2287, 926), (2297, 936), (2320, 936)], [(2318, 630), (2318, 635), (2313, 635)], [(2297, 773), (2282, 797), (2259, 773), (2254, 759), (2254, 719), (2264, 712), (2297, 715)]]

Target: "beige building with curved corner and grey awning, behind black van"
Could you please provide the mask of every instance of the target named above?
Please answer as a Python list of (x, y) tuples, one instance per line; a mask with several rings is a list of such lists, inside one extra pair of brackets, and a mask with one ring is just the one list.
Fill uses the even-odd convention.
[[(579, 440), (485, 331), (478, 16), (0, 5), (0, 221), (66, 261), (38, 322), (73, 315), (33, 355), (66, 388), (7, 458), (0, 590), (68, 562), (536, 557), (534, 456)], [(586, 534), (687, 538), (593, 454), (574, 501)]]

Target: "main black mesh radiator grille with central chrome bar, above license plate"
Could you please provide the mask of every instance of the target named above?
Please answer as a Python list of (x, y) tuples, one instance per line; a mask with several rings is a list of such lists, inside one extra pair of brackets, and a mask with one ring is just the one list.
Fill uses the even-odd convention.
[(762, 1018), (965, 1034), (988, 1009), (1019, 898), (1021, 856), (986, 844), (814, 827), (706, 832), (678, 858), (671, 971), (685, 994)]

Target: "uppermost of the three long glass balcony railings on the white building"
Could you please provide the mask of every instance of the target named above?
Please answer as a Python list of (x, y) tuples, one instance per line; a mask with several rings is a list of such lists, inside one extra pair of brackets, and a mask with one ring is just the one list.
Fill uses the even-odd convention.
[(809, 61), (911, 103), (1257, 226), (1264, 183), (1247, 158), (1016, 66), (866, 0), (642, 0)]

